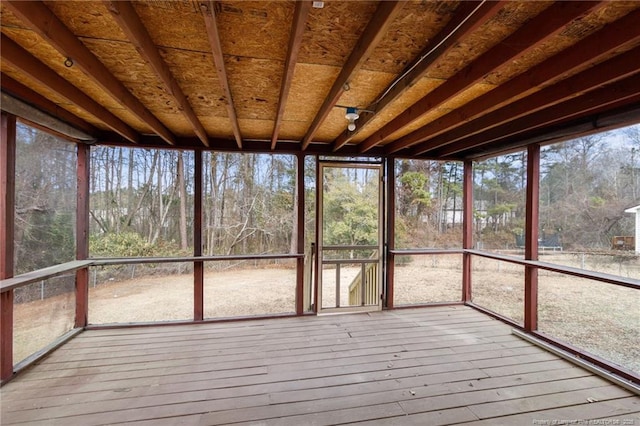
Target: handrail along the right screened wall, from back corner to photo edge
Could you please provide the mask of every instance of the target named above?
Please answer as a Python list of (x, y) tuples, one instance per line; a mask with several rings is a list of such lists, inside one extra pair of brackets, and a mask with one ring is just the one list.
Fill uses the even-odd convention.
[(640, 290), (640, 280), (634, 280), (633, 278), (626, 278), (619, 275), (607, 274), (604, 272), (588, 271), (585, 269), (563, 266), (555, 263), (540, 262), (539, 260), (520, 259), (517, 257), (507, 256), (504, 254), (495, 254), (481, 250), (465, 249), (463, 250), (463, 252), (475, 256), (486, 257), (488, 259), (500, 260), (503, 262), (515, 263), (517, 265), (523, 266), (533, 266), (538, 269), (544, 269), (546, 271), (558, 272), (561, 274), (572, 275), (574, 277), (587, 278), (594, 281), (600, 281), (608, 284), (614, 284), (622, 287)]

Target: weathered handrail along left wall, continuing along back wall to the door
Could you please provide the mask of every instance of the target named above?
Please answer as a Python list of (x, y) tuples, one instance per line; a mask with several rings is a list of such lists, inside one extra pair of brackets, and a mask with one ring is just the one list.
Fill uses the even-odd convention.
[(223, 260), (269, 260), (269, 259), (301, 259), (304, 254), (261, 254), (245, 256), (182, 256), (182, 257), (120, 257), (93, 258), (87, 260), (72, 260), (59, 265), (49, 266), (0, 280), (0, 292), (4, 293), (24, 287), (34, 282), (57, 277), (68, 272), (75, 272), (90, 266), (130, 265), (142, 263), (178, 263), (178, 262), (214, 262)]

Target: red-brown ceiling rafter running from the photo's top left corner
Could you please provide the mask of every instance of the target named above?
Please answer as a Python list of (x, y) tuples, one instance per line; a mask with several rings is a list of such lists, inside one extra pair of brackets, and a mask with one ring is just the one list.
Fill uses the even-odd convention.
[(3, 4), (47, 40), (61, 54), (72, 58), (84, 73), (124, 108), (146, 123), (167, 143), (175, 136), (118, 80), (107, 67), (40, 1), (4, 1)]

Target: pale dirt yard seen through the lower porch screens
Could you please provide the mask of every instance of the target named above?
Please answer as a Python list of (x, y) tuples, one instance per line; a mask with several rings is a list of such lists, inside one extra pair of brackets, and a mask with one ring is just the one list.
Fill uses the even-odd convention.
[[(460, 266), (455, 255), (415, 257), (396, 266), (396, 305), (460, 300)], [(344, 269), (345, 279), (353, 275)], [(522, 272), (523, 267), (505, 262), (474, 262), (474, 302), (521, 322)], [(192, 318), (190, 273), (138, 276), (134, 271), (131, 276), (92, 283), (90, 323)], [(207, 272), (205, 317), (294, 312), (295, 281), (295, 270), (283, 267)], [(640, 292), (544, 271), (539, 281), (540, 331), (640, 371)], [(74, 296), (18, 304), (14, 317), (18, 361), (72, 328)]]

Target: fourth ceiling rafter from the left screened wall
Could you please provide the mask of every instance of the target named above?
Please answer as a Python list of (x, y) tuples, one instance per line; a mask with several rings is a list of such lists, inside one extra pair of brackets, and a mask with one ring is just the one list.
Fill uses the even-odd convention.
[(207, 132), (193, 111), (178, 82), (173, 77), (171, 70), (162, 59), (162, 56), (160, 56), (158, 48), (144, 24), (140, 21), (140, 17), (133, 5), (129, 1), (107, 1), (106, 5), (115, 21), (129, 38), (129, 41), (133, 43), (138, 53), (149, 63), (155, 74), (164, 83), (167, 93), (176, 100), (178, 108), (191, 124), (196, 136), (205, 146), (209, 146)]

